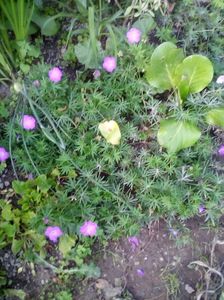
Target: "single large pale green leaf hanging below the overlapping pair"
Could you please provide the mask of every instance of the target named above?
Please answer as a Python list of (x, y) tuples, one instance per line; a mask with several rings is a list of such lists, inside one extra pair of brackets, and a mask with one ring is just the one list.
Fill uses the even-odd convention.
[(169, 153), (175, 153), (193, 146), (200, 136), (201, 132), (194, 124), (168, 119), (160, 123), (157, 139)]

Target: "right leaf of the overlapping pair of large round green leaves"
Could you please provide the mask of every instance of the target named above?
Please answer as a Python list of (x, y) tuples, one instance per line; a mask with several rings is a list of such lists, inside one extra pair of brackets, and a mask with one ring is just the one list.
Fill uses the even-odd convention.
[(202, 91), (213, 78), (213, 66), (203, 55), (191, 55), (176, 69), (176, 85), (183, 95)]

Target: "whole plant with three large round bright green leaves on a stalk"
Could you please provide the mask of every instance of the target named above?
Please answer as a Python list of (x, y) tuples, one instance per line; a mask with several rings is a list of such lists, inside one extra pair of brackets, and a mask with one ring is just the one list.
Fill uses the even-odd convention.
[[(182, 110), (189, 94), (199, 93), (211, 82), (213, 66), (202, 55), (184, 58), (182, 49), (165, 42), (153, 52), (146, 77), (159, 92), (173, 90), (177, 105)], [(199, 128), (183, 117), (186, 118), (180, 113), (179, 120), (172, 117), (160, 123), (158, 142), (170, 153), (194, 145), (201, 136)]]

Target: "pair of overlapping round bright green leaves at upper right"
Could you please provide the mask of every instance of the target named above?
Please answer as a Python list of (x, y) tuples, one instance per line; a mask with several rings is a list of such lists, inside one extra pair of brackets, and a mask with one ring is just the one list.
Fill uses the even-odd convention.
[(198, 93), (211, 82), (213, 67), (202, 55), (184, 59), (181, 49), (165, 42), (154, 50), (146, 77), (160, 91), (177, 89), (181, 99), (185, 100), (189, 93)]

